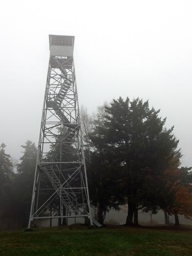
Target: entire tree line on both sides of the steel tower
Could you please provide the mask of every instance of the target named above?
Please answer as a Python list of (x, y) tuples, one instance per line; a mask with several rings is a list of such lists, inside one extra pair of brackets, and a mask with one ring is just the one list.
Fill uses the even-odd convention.
[[(126, 225), (138, 225), (138, 210), (163, 210), (166, 224), (169, 215), (176, 225), (178, 215), (192, 217), (191, 167), (181, 166), (174, 127), (166, 129), (159, 110), (120, 97), (94, 116), (85, 108), (80, 115), (91, 204), (101, 224), (106, 212), (124, 204)], [(0, 229), (26, 227), (29, 219), (37, 149), (29, 140), (22, 148), (15, 172), (6, 145), (0, 146)]]

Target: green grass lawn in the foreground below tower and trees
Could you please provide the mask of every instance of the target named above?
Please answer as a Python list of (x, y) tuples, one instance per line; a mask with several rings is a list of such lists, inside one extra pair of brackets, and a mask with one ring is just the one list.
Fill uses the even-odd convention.
[(0, 255), (192, 255), (192, 230), (72, 226), (4, 231)]

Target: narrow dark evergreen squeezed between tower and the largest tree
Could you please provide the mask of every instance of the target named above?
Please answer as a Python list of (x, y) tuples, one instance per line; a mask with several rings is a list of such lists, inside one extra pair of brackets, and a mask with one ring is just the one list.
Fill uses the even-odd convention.
[(113, 157), (111, 154), (113, 148), (105, 144), (99, 132), (104, 119), (104, 111), (100, 109), (94, 120), (93, 131), (89, 134), (92, 151), (89, 157), (90, 163), (87, 163), (91, 203), (97, 207), (97, 219), (101, 224), (107, 211), (111, 208), (119, 210), (119, 205), (125, 203), (119, 161)]

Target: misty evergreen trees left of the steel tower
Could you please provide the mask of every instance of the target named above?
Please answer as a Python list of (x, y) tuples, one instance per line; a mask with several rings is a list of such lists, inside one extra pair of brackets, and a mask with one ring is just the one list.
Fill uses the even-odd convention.
[(22, 150), (13, 166), (6, 145), (0, 146), (0, 230), (27, 227), (29, 221), (37, 148), (28, 140)]

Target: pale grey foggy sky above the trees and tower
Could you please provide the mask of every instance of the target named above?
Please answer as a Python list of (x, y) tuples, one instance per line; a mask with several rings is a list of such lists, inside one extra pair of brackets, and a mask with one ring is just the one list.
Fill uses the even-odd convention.
[(74, 35), (79, 103), (90, 113), (119, 96), (150, 100), (175, 125), (183, 165), (191, 159), (191, 1), (3, 1), (0, 143), (20, 157), (37, 143), (49, 34)]

